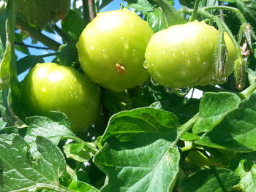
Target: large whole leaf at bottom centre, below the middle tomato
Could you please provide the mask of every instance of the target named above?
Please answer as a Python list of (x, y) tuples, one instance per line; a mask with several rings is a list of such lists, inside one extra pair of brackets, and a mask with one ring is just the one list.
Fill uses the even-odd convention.
[(177, 128), (175, 115), (151, 107), (113, 115), (93, 160), (108, 176), (101, 191), (171, 191), (178, 173)]

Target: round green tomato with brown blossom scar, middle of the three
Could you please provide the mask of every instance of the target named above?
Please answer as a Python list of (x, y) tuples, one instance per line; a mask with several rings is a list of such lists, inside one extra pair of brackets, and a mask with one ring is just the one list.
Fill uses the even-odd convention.
[(121, 92), (148, 78), (144, 54), (154, 34), (135, 12), (100, 12), (80, 35), (78, 57), (87, 76), (97, 84)]

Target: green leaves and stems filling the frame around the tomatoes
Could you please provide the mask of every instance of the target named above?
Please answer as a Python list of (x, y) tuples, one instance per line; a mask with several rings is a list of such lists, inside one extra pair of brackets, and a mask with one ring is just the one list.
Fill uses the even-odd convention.
[[(255, 191), (254, 0), (202, 0), (195, 9), (195, 0), (180, 0), (186, 6), (180, 10), (174, 9), (176, 1), (172, 0), (125, 1), (121, 6), (133, 8), (154, 33), (187, 23), (197, 10), (197, 20), (205, 20), (230, 35), (238, 58), (233, 65), (235, 71), (222, 84), (214, 79), (211, 85), (192, 88), (192, 91), (203, 91), (199, 99), (195, 94), (184, 97), (188, 89), (170, 93), (173, 90), (157, 85), (154, 80), (120, 93), (100, 88), (99, 118), (77, 134), (64, 113), (50, 111), (48, 117), (27, 117), (20, 105), (23, 82), (18, 82), (18, 75), (43, 63), (48, 56), (54, 56), (55, 63), (82, 72), (75, 45), (89, 16), (113, 0), (95, 0), (92, 6), (90, 1), (83, 0), (80, 7), (75, 7), (78, 1), (74, 0), (68, 13), (60, 1), (24, 2), (30, 4), (23, 8), (32, 10), (25, 15), (17, 7), (22, 0), (0, 0), (1, 192)], [(59, 9), (64, 9), (67, 15), (59, 15), (56, 12)], [(55, 22), (60, 16), (64, 18), (57, 26)], [(38, 18), (38, 23), (34, 23), (33, 19)], [(45, 31), (59, 34), (64, 44), (46, 37)], [(124, 32), (132, 30), (127, 28)], [(55, 52), (35, 55), (24, 43), (28, 38), (32, 43), (42, 42), (46, 49)], [(135, 43), (140, 45), (140, 39)], [(226, 60), (221, 35), (219, 45), (224, 47), (216, 49), (214, 59), (221, 76), (225, 73)], [(201, 46), (203, 50), (208, 48)], [(18, 58), (16, 50), (26, 56)], [(118, 58), (116, 53), (118, 50), (113, 54)], [(95, 58), (99, 56), (102, 55)], [(182, 65), (177, 67), (182, 69)], [(234, 77), (237, 85), (241, 85), (238, 88), (244, 86), (243, 91), (236, 90)], [(57, 94), (56, 100), (59, 97)]]

